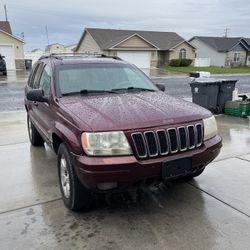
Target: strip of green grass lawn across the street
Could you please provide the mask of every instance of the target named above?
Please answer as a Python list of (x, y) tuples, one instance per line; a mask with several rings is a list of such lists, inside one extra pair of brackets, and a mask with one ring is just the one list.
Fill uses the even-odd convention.
[(250, 67), (233, 67), (233, 68), (222, 68), (222, 67), (171, 67), (163, 66), (163, 70), (168, 72), (178, 73), (190, 73), (191, 71), (207, 71), (211, 74), (250, 74)]

